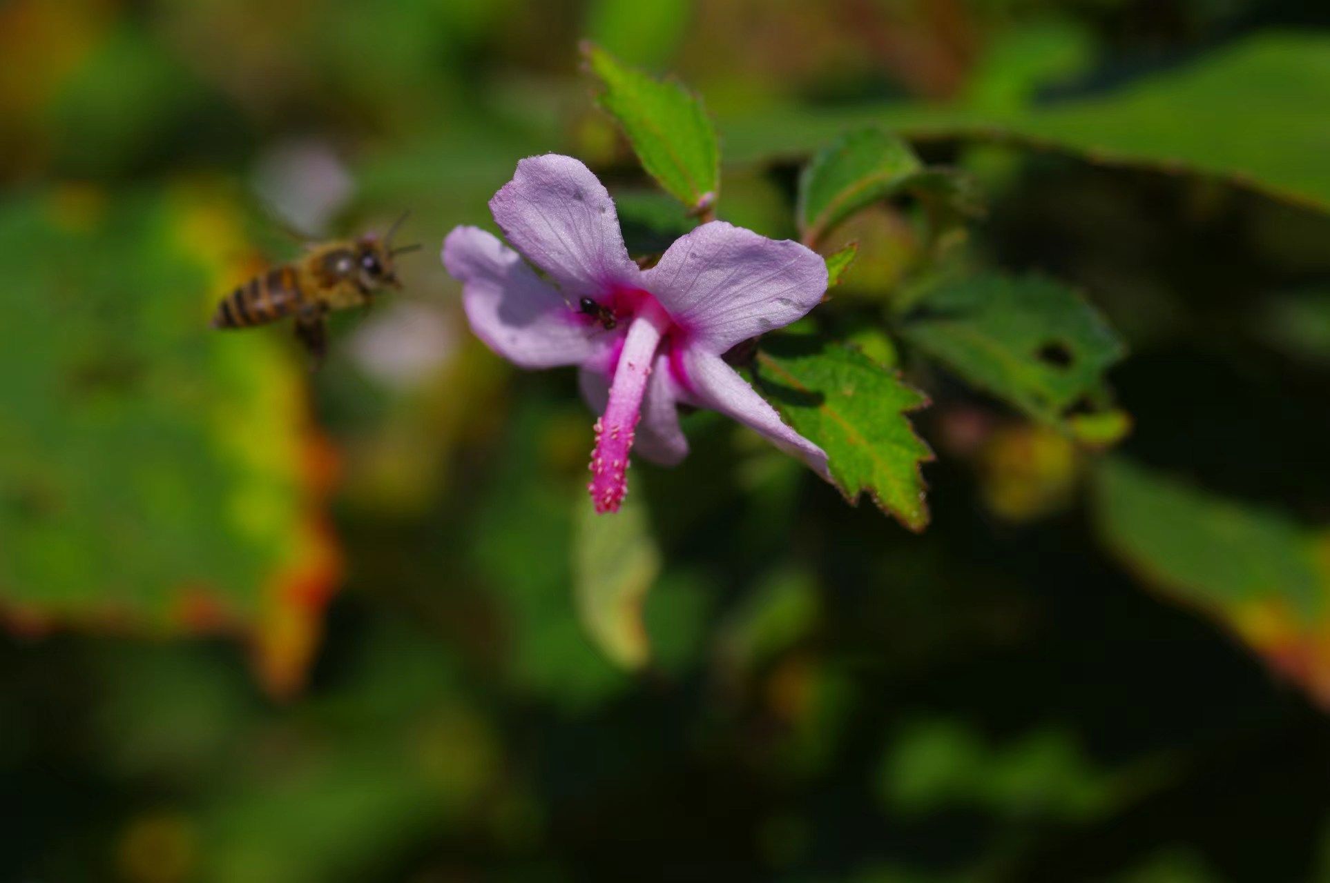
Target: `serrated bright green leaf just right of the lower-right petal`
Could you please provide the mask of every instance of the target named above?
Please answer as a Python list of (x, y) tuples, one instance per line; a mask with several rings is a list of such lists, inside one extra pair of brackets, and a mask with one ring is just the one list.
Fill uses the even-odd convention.
[(923, 393), (853, 347), (790, 332), (762, 339), (753, 374), (790, 426), (827, 453), (847, 501), (867, 493), (910, 530), (927, 526), (919, 465), (932, 451), (906, 417), (928, 404)]

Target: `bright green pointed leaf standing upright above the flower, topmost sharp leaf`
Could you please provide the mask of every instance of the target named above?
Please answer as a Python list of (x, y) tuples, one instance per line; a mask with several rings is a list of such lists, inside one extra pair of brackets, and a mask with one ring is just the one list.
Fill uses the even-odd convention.
[(589, 42), (583, 56), (604, 90), (598, 101), (622, 126), (642, 169), (689, 210), (714, 206), (721, 150), (702, 101), (682, 84), (621, 65)]

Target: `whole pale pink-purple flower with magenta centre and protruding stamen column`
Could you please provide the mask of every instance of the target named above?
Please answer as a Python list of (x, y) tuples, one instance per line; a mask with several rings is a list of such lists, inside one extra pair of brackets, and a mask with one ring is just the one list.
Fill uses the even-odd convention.
[(489, 210), (517, 251), (458, 227), (443, 264), (463, 283), (472, 331), (496, 353), (523, 368), (581, 366), (583, 394), (601, 413), (588, 485), (597, 511), (622, 502), (634, 443), (661, 465), (684, 459), (680, 402), (729, 414), (829, 478), (822, 449), (721, 359), (813, 309), (827, 287), (822, 258), (713, 220), (640, 270), (609, 193), (581, 162), (556, 154), (519, 162)]

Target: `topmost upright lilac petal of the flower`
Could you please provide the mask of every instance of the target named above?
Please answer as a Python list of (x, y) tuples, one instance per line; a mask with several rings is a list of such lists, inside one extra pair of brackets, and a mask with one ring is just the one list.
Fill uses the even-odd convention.
[(489, 211), (508, 242), (569, 300), (641, 285), (609, 191), (572, 157), (523, 159), (489, 201)]

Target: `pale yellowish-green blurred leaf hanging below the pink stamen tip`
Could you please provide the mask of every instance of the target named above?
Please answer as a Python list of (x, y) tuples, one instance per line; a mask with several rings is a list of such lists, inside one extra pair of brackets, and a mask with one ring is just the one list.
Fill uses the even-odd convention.
[(583, 627), (610, 660), (641, 668), (650, 655), (642, 605), (661, 572), (645, 509), (629, 497), (613, 515), (600, 515), (579, 494), (575, 531), (573, 592)]

